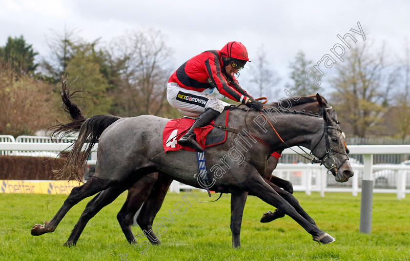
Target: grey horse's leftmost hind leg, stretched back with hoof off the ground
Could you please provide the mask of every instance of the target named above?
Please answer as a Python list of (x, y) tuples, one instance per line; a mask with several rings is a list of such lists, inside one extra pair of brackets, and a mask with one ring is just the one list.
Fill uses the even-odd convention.
[(73, 207), (86, 197), (92, 196), (106, 189), (108, 186), (110, 186), (110, 183), (112, 183), (111, 180), (92, 177), (84, 185), (74, 187), (56, 215), (49, 222), (45, 222), (44, 225), (36, 224), (35, 226), (33, 226), (33, 228), (31, 229), (31, 234), (33, 236), (40, 236), (44, 233), (54, 232), (57, 225), (60, 224), (62, 218), (65, 216), (65, 214), (67, 214), (68, 210), (70, 210), (71, 207)]

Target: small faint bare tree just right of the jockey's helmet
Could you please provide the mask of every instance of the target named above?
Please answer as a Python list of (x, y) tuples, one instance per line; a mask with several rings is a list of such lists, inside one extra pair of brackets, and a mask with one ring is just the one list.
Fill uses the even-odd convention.
[(268, 67), (267, 52), (263, 46), (259, 47), (257, 55), (256, 60), (252, 61), (255, 67), (252, 67), (253, 76), (251, 82), (256, 84), (259, 97), (266, 96), (272, 98), (272, 96), (276, 94), (273, 94), (272, 90), (281, 78), (275, 71)]

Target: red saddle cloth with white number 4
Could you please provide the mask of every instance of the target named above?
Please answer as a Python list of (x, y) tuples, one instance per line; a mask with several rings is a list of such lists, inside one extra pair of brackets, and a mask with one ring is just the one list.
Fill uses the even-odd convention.
[[(188, 119), (188, 118), (180, 118), (170, 120), (166, 123), (164, 131), (163, 131), (163, 146), (165, 153), (169, 150), (189, 150), (195, 151), (195, 149), (191, 149), (190, 147), (181, 146), (178, 144), (178, 140), (184, 136), (184, 134), (191, 128), (192, 124), (195, 120)], [(214, 124), (212, 121), (210, 124)], [(214, 127), (211, 125), (207, 125), (203, 128), (195, 128), (194, 132), (196, 134), (196, 141), (201, 145), (201, 147), (205, 148), (205, 141), (206, 135), (213, 129)]]

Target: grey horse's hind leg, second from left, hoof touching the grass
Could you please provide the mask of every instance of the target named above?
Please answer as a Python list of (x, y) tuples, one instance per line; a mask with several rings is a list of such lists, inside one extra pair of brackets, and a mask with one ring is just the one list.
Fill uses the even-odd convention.
[(94, 197), (90, 202), (88, 202), (80, 219), (71, 231), (70, 237), (67, 242), (64, 243), (66, 246), (75, 245), (80, 238), (82, 230), (88, 221), (94, 217), (104, 206), (113, 202), (125, 189), (128, 188), (127, 182), (110, 186), (106, 190), (102, 191), (96, 197)]

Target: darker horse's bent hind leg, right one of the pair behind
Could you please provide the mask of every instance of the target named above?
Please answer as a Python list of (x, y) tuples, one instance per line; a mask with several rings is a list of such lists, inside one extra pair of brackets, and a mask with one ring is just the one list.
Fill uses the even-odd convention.
[(160, 211), (160, 208), (164, 203), (165, 195), (168, 192), (168, 188), (172, 181), (173, 179), (170, 176), (160, 172), (157, 182), (155, 182), (151, 193), (144, 202), (137, 217), (137, 223), (143, 230), (144, 235), (154, 245), (160, 244), (161, 242), (155, 235), (152, 229), (152, 224), (155, 216), (158, 211)]

